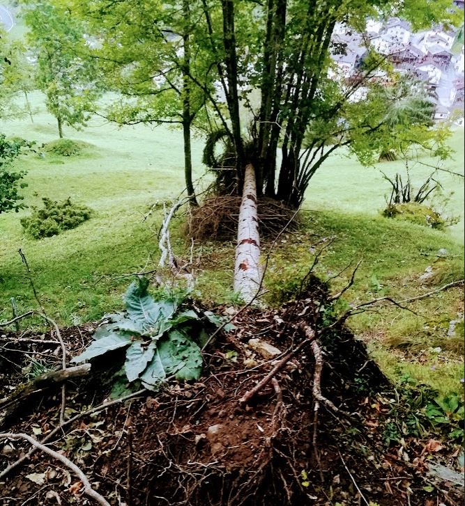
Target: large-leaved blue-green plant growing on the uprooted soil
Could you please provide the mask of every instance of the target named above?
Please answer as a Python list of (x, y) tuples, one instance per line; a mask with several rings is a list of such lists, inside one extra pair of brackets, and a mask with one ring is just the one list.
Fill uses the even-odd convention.
[[(201, 317), (194, 310), (181, 309), (185, 293), (165, 292), (155, 300), (147, 289), (146, 278), (131, 283), (123, 297), (125, 313), (107, 315), (109, 322), (97, 329), (94, 341), (73, 362), (126, 348), (123, 369), (129, 382), (140, 381), (154, 390), (171, 377), (199, 379), (203, 363), (199, 344), (205, 335)], [(208, 311), (204, 317), (211, 324), (222, 323)]]

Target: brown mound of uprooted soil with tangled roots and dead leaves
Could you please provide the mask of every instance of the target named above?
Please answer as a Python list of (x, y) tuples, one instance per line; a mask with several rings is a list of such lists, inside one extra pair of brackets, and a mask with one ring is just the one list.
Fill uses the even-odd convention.
[[(111, 363), (104, 356), (90, 377), (68, 384), (66, 416), (75, 421), (49, 443), (112, 505), (455, 504), (460, 493), (453, 487), (425, 487), (424, 447), (411, 445), (406, 458), (406, 443), (383, 441), (392, 387), (361, 342), (337, 322), (328, 324), (326, 299), (315, 279), (279, 310), (247, 308), (236, 316), (236, 330), (206, 349), (201, 381), (98, 407), (121, 366), (117, 352)], [(70, 354), (91, 340), (92, 330), (63, 331)], [(54, 344), (7, 338), (17, 351), (1, 363), (4, 393), (24, 381), (22, 351), (56, 354)], [(60, 404), (59, 389), (40, 391), (3, 431), (47, 438)], [(28, 449), (0, 442), (1, 468)], [(4, 505), (32, 497), (36, 504), (83, 500), (82, 483), (38, 452), (25, 466), (0, 471), (2, 482)]]

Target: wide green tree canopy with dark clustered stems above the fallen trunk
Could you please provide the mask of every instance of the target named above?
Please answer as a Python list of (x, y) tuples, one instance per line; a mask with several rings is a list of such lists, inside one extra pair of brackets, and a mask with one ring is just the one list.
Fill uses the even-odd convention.
[[(259, 195), (298, 206), (314, 172), (337, 148), (347, 146), (367, 163), (401, 139), (404, 145), (421, 139), (424, 148), (443, 139), (421, 112), (425, 95), (411, 94), (409, 106), (399, 100), (412, 85), (400, 83), (386, 57), (368, 42), (350, 81), (335, 78), (330, 53), (344, 50), (332, 38), (337, 23), (359, 33), (367, 19), (392, 15), (407, 19), (413, 29), (457, 24), (450, 0), (68, 0), (67, 5), (91, 26), (93, 58), (108, 88), (123, 97), (107, 116), (188, 130), (196, 124), (217, 139), (221, 128), (234, 151), (238, 191), (251, 161)], [(365, 98), (356, 100), (360, 90)], [(396, 111), (396, 118), (386, 110)]]

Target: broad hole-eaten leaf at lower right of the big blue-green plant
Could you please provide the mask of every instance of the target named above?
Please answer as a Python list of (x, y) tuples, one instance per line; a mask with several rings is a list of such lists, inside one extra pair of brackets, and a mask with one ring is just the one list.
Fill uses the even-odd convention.
[(153, 390), (170, 376), (178, 380), (199, 379), (201, 367), (200, 348), (183, 333), (171, 331), (167, 338), (158, 341), (153, 360), (140, 379)]

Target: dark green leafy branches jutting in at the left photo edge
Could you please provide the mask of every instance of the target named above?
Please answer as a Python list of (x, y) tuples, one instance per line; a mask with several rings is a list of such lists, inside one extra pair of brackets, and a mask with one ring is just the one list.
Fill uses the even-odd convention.
[(20, 182), (26, 172), (11, 171), (10, 166), (26, 145), (31, 144), (22, 139), (8, 141), (5, 135), (0, 134), (0, 214), (13, 209), (18, 212), (24, 208), (21, 202), (24, 197), (19, 189), (26, 187), (25, 183)]

